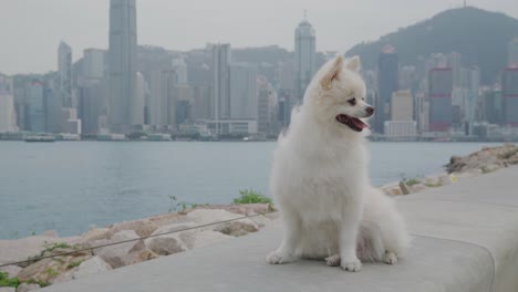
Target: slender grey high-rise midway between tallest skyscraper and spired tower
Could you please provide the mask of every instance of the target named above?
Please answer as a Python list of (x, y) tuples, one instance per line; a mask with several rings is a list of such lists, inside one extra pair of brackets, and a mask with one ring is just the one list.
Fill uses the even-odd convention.
[(213, 45), (213, 105), (214, 119), (230, 118), (230, 44)]

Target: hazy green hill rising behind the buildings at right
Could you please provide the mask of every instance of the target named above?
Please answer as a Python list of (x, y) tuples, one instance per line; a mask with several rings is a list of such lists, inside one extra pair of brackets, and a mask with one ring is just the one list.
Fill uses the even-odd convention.
[(467, 7), (444, 11), (377, 41), (356, 44), (346, 55), (358, 54), (364, 67), (374, 69), (385, 44), (395, 48), (401, 65), (417, 64), (419, 55), (455, 51), (463, 55), (465, 65), (480, 67), (484, 84), (491, 84), (506, 66), (507, 46), (516, 36), (517, 19)]

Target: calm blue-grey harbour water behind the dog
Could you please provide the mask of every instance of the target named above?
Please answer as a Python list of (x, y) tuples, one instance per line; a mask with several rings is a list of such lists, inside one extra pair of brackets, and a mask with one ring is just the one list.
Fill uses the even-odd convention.
[[(452, 155), (491, 144), (371, 143), (377, 185), (435, 174)], [(495, 144), (493, 144), (495, 145)], [(0, 239), (167, 212), (178, 202), (230, 204), (268, 194), (274, 143), (0, 142)], [(176, 201), (170, 198), (176, 197)]]

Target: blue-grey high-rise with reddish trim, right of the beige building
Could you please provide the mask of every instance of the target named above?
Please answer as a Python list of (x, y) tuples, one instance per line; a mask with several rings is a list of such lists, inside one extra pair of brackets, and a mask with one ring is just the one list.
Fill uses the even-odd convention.
[(431, 132), (447, 132), (452, 126), (453, 70), (434, 67), (428, 72), (428, 102)]

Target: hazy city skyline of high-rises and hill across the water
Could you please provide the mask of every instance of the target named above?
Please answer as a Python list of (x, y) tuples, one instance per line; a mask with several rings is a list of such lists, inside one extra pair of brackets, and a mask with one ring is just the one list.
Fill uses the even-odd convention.
[[(317, 69), (336, 54), (317, 51), (320, 32), (305, 11), (293, 30), (292, 52), (278, 45), (232, 49), (231, 43), (221, 42), (190, 51), (138, 46), (137, 0), (110, 0), (110, 3), (108, 50), (85, 49), (82, 59), (73, 63), (73, 56), (81, 52), (61, 41), (56, 50), (58, 71), (40, 76), (20, 74), (12, 81), (8, 77), (7, 84), (12, 82), (14, 92), (4, 94), (6, 104), (12, 107), (10, 100), (14, 97), (14, 116), (21, 132), (100, 135), (100, 138), (106, 134), (134, 137), (137, 133), (165, 134), (169, 139), (170, 135), (276, 136), (289, 124), (290, 109), (302, 102)], [(485, 52), (478, 32), (486, 27), (499, 28), (498, 33), (495, 31), (498, 38), (491, 43), (507, 50), (508, 60), (494, 60), (501, 54), (495, 50), (479, 63), (463, 43), (448, 42), (452, 29), (472, 23), (474, 18), (480, 19), (478, 27), (470, 31), (453, 30), (453, 34), (468, 36), (469, 43), (478, 43), (479, 51)], [(509, 86), (517, 77), (516, 28), (516, 19), (464, 7), (377, 42), (359, 45), (377, 51), (374, 67), (366, 62), (362, 65), (370, 88), (365, 97), (377, 108), (372, 121), (373, 134), (388, 138), (417, 135), (474, 138), (485, 137), (486, 133), (503, 135), (509, 127), (516, 127), (516, 118), (509, 114), (514, 111), (509, 108), (516, 108), (515, 87)], [(449, 45), (434, 46), (438, 51), (418, 46), (408, 50), (412, 41), (401, 41), (398, 36), (408, 31), (413, 32), (406, 36), (411, 40), (415, 34), (426, 36), (419, 43), (428, 43), (429, 39)], [(415, 56), (415, 52), (421, 54)], [(366, 61), (373, 58), (372, 53), (365, 55), (358, 50), (348, 54), (361, 55)], [(414, 59), (406, 58), (412, 54)], [(497, 70), (485, 62), (488, 58)], [(507, 65), (511, 70), (506, 70), (503, 79), (498, 70)], [(486, 80), (493, 83), (481, 83), (480, 73), (485, 70), (489, 72)], [(503, 97), (497, 95), (499, 87)], [(501, 106), (509, 108), (497, 119), (494, 113), (501, 112)], [(10, 113), (9, 109), (2, 114), (6, 117), (2, 127), (11, 127)], [(495, 124), (485, 124), (489, 121)]]

